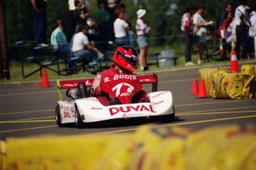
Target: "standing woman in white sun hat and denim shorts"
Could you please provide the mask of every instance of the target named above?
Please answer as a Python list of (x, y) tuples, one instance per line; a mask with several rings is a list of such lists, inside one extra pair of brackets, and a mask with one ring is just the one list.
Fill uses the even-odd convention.
[(148, 33), (151, 30), (151, 27), (148, 27), (144, 23), (143, 19), (145, 18), (146, 10), (140, 9), (137, 10), (137, 22), (136, 22), (136, 31), (137, 31), (137, 44), (140, 48), (139, 55), (139, 64), (140, 69), (147, 66), (147, 55), (148, 55)]

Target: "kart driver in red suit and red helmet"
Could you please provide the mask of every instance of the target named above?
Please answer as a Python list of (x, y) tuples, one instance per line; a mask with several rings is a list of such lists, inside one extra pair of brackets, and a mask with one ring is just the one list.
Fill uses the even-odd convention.
[[(138, 53), (133, 47), (122, 46), (118, 47), (114, 52), (113, 57), (114, 64), (111, 65), (110, 69), (100, 72), (99, 75), (96, 75), (96, 78), (93, 81), (93, 92), (97, 96), (98, 100), (101, 101), (105, 106), (120, 104), (118, 98), (113, 98), (102, 92), (100, 89), (99, 82), (101, 79), (116, 75), (116, 74), (132, 74), (137, 68)], [(106, 101), (107, 100), (107, 101)], [(132, 103), (146, 102), (148, 101), (147, 93), (144, 90), (140, 90), (132, 99)]]

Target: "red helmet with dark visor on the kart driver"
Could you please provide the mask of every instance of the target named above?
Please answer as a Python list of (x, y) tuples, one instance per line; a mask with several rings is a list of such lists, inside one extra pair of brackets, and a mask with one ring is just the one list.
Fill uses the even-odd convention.
[(122, 46), (116, 49), (113, 61), (119, 67), (134, 72), (138, 62), (138, 52), (133, 47)]

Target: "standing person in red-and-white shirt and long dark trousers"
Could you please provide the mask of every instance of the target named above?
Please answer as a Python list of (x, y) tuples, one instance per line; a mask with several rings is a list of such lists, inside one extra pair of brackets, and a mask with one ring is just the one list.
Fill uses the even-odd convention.
[(186, 13), (183, 14), (181, 19), (181, 30), (183, 31), (183, 37), (185, 40), (185, 60), (186, 66), (194, 66), (191, 61), (191, 49), (192, 49), (192, 38), (193, 38), (193, 20), (191, 16), (194, 14), (194, 4), (190, 4), (186, 7)]

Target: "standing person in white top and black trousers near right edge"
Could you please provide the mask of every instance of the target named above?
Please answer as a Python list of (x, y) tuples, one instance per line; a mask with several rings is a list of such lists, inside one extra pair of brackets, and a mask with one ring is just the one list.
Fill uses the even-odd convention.
[[(234, 11), (234, 30), (236, 35), (235, 52), (240, 58), (247, 58), (247, 47), (246, 47), (246, 21), (244, 21), (243, 15), (246, 15), (246, 0), (240, 0), (240, 5)], [(240, 50), (242, 48), (242, 51)], [(241, 53), (240, 53), (241, 52)]]

